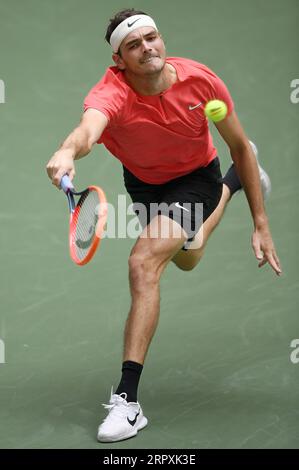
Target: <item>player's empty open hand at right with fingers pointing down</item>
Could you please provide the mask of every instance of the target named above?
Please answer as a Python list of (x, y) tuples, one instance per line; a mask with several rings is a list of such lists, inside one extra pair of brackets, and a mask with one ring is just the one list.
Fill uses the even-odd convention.
[(268, 224), (255, 228), (251, 242), (254, 254), (259, 260), (258, 267), (261, 268), (266, 263), (269, 263), (273, 271), (280, 276), (282, 269)]

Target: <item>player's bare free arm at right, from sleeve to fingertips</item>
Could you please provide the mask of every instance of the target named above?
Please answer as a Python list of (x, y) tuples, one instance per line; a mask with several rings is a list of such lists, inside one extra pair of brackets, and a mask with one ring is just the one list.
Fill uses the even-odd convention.
[(280, 275), (282, 271), (264, 207), (259, 169), (249, 140), (235, 111), (215, 125), (229, 146), (236, 172), (248, 200), (254, 223), (252, 247), (259, 260), (259, 267), (269, 263), (276, 274)]

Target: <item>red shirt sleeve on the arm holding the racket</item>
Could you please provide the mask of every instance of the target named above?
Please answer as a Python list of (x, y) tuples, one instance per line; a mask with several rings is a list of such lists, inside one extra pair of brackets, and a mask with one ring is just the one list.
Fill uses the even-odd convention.
[(108, 127), (116, 122), (117, 117), (125, 103), (125, 91), (109, 71), (103, 78), (89, 91), (84, 99), (84, 112), (89, 109), (101, 111), (108, 119)]

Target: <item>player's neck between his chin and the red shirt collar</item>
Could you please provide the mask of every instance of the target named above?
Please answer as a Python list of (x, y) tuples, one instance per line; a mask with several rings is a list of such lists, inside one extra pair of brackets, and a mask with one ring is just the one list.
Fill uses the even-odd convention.
[(125, 70), (125, 78), (128, 84), (140, 95), (159, 95), (170, 88), (177, 81), (175, 68), (165, 64), (160, 72), (152, 75), (138, 76)]

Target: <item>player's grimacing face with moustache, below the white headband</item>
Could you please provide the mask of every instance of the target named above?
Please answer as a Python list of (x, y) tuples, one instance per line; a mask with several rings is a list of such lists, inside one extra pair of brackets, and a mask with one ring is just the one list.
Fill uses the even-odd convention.
[(123, 40), (121, 56), (113, 58), (121, 70), (136, 75), (153, 75), (165, 65), (166, 51), (161, 35), (152, 27), (136, 29)]

